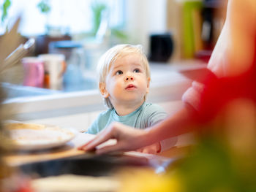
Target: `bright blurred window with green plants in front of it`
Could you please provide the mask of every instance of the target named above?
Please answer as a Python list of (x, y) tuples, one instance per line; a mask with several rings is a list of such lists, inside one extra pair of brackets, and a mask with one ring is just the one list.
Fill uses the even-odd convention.
[[(124, 0), (48, 0), (50, 12), (40, 12), (37, 4), (42, 0), (10, 0), (7, 19), (1, 23), (0, 34), (4, 34), (6, 26), (10, 28), (18, 15), (21, 15), (20, 34), (34, 36), (45, 34), (45, 26), (59, 28), (64, 34), (79, 34), (91, 31), (93, 18), (91, 4), (107, 5), (110, 27), (124, 25)], [(4, 0), (0, 1), (1, 4)], [(1, 9), (2, 14), (2, 9)]]

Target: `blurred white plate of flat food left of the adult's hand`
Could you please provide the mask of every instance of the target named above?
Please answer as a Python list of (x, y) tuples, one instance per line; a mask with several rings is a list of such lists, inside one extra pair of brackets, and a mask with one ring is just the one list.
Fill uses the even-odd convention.
[(75, 131), (59, 126), (12, 122), (4, 123), (10, 131), (12, 148), (15, 150), (45, 150), (66, 144), (75, 137)]

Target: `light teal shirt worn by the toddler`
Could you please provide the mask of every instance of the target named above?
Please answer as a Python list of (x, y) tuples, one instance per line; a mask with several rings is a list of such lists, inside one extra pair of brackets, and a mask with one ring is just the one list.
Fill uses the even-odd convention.
[(135, 128), (147, 128), (154, 126), (166, 117), (167, 113), (162, 107), (157, 104), (144, 102), (137, 110), (128, 115), (119, 116), (114, 109), (100, 113), (98, 118), (89, 127), (87, 133), (97, 134), (114, 121)]

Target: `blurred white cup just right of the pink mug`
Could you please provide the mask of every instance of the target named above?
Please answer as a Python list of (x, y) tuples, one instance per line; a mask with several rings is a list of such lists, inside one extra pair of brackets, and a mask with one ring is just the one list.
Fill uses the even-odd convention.
[(63, 54), (42, 54), (38, 58), (45, 66), (45, 88), (62, 88), (63, 74), (66, 70), (65, 56)]

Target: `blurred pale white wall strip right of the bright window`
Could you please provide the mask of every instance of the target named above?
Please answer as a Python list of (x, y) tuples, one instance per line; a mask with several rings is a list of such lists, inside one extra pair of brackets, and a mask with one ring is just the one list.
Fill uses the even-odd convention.
[(167, 0), (127, 1), (127, 31), (131, 43), (143, 45), (148, 53), (149, 36), (166, 32)]

